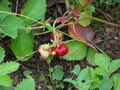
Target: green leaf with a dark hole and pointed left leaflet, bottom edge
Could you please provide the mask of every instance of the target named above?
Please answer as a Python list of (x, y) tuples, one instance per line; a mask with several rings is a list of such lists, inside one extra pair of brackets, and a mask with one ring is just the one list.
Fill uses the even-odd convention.
[(99, 81), (94, 79), (95, 79), (94, 69), (87, 67), (81, 70), (81, 72), (79, 73), (78, 77), (75, 80), (73, 80), (72, 78), (69, 79), (66, 78), (64, 79), (64, 81), (73, 84), (77, 89), (88, 90), (92, 86), (93, 86), (92, 89), (94, 89), (95, 86), (99, 85)]

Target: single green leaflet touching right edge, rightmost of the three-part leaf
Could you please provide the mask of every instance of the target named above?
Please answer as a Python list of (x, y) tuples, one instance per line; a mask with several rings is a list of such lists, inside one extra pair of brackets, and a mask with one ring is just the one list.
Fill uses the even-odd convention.
[(120, 59), (114, 60), (110, 63), (109, 66), (109, 72), (113, 73), (115, 72), (118, 68), (120, 68)]

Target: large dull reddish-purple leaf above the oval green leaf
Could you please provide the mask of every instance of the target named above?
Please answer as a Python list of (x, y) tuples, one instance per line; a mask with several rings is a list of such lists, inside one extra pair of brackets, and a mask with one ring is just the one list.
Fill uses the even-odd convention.
[(94, 37), (94, 30), (90, 27), (83, 27), (79, 23), (69, 24), (68, 32), (70, 35), (78, 37), (82, 40), (90, 42)]

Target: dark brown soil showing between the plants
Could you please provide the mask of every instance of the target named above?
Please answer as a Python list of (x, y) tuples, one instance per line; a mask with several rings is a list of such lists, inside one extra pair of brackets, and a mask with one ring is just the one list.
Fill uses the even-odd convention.
[[(26, 2), (25, 0), (19, 0), (18, 4), (16, 3), (17, 0), (10, 0), (13, 5), (13, 11), (16, 11), (16, 5), (17, 6), (17, 13), (20, 12), (20, 9), (23, 7), (24, 3)], [(54, 2), (52, 2), (54, 1)], [(46, 12), (46, 20), (51, 17), (51, 19), (55, 19), (57, 17), (60, 17), (63, 15), (65, 12), (65, 3), (62, 0), (47, 0), (47, 12)], [(109, 15), (111, 15), (112, 18), (104, 18), (108, 21), (112, 21), (115, 23), (120, 24), (120, 21), (116, 18), (114, 18), (118, 13), (116, 12), (113, 14), (112, 12), (109, 12), (109, 9), (106, 10), (106, 8), (99, 8), (102, 11), (105, 11)], [(117, 11), (117, 8), (114, 7), (113, 11)], [(119, 10), (118, 10), (119, 11)], [(103, 15), (105, 13), (101, 13), (99, 10), (96, 10), (96, 15)], [(118, 59), (120, 58), (120, 28), (115, 27), (115, 26), (110, 26), (107, 24), (99, 23), (97, 21), (93, 22), (94, 24), (97, 24), (98, 27), (95, 27), (95, 30), (101, 30), (100, 32), (96, 32), (97, 37), (104, 36), (106, 33), (110, 33), (111, 36), (104, 37), (102, 41), (96, 42), (96, 45), (101, 48), (107, 55), (109, 55), (112, 59)], [(94, 26), (94, 25), (93, 25)], [(66, 31), (66, 27), (63, 28), (63, 31)], [(39, 30), (38, 30), (39, 31)], [(35, 43), (34, 43), (34, 50), (37, 50), (39, 45), (44, 44), (44, 43), (49, 43), (50, 42), (50, 34), (45, 34), (45, 35), (39, 35), (35, 36)], [(69, 39), (68, 37), (65, 37), (65, 40)], [(6, 61), (11, 61), (11, 60), (16, 60), (14, 54), (11, 51), (11, 46), (10, 46), (10, 38), (5, 37), (2, 41), (0, 41), (0, 45), (5, 48), (6, 51)], [(63, 70), (64, 70), (64, 77), (70, 77), (71, 73), (70, 71), (72, 70), (73, 66), (75, 64), (79, 64), (82, 68), (88, 66), (88, 62), (85, 60), (82, 61), (77, 61), (77, 62), (69, 62), (65, 60), (60, 60), (59, 58), (54, 58), (52, 63), (50, 65), (47, 64), (46, 60), (43, 60), (40, 58), (40, 54), (36, 53), (33, 55), (32, 58), (30, 58), (28, 61), (25, 62), (20, 62), (21, 66), (19, 70), (16, 72), (10, 74), (11, 78), (14, 79), (14, 86), (17, 85), (20, 81), (22, 81), (25, 76), (23, 75), (23, 72), (25, 70), (30, 70), (33, 73), (31, 76), (35, 79), (36, 82), (36, 90), (46, 90), (45, 86), (50, 85), (50, 79), (48, 77), (49, 75), (49, 67), (54, 67), (55, 65), (60, 65)], [(44, 74), (46, 76), (46, 81), (44, 83), (41, 83), (39, 81), (39, 76), (40, 74)], [(65, 84), (66, 88), (69, 87), (69, 84)]]

